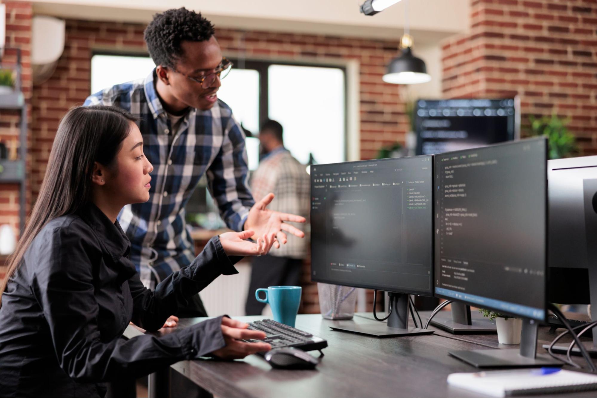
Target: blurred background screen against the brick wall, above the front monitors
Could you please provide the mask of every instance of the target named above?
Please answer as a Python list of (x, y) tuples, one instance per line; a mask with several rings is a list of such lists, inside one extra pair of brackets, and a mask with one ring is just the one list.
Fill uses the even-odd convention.
[(518, 98), (418, 100), (417, 155), (469, 149), (519, 138)]

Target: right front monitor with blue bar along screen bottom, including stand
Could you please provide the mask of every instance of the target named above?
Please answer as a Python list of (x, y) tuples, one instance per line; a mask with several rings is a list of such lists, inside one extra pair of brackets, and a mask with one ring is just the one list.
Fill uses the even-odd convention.
[(450, 354), (478, 367), (554, 363), (536, 356), (547, 306), (547, 140), (442, 153), (434, 162), (435, 295), (523, 322), (519, 352)]

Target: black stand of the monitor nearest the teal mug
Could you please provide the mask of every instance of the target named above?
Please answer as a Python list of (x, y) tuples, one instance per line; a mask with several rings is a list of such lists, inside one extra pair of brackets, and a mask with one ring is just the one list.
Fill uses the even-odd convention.
[(386, 323), (377, 322), (357, 325), (355, 322), (338, 321), (330, 328), (374, 337), (397, 337), (432, 334), (430, 329), (408, 328), (408, 294), (389, 293), (392, 312)]

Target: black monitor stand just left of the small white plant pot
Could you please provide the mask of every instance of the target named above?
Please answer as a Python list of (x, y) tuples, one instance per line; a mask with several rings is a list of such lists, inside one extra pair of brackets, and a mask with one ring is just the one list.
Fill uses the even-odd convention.
[(470, 306), (452, 303), (451, 311), (439, 311), (430, 325), (453, 334), (496, 334), (496, 321), (489, 320), (478, 312), (470, 313)]

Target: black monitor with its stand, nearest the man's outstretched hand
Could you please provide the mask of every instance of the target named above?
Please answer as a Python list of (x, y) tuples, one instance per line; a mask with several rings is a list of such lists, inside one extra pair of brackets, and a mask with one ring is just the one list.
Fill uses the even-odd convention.
[(432, 156), (311, 167), (312, 280), (390, 292), (387, 328), (344, 330), (432, 332), (407, 316), (408, 294), (433, 294), (432, 168)]

